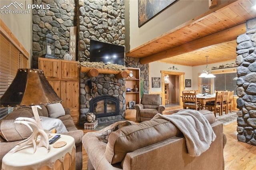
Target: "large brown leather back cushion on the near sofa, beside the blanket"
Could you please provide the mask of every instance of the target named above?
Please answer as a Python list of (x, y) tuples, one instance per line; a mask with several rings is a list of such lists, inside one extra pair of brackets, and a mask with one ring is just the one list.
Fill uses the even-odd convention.
[(109, 134), (104, 155), (111, 164), (122, 162), (128, 152), (179, 134), (181, 134), (180, 130), (165, 119), (154, 119), (129, 125)]

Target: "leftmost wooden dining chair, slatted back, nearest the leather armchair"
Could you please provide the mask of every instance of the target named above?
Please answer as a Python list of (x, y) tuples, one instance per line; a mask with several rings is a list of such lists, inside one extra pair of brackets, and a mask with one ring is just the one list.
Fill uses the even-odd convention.
[(183, 109), (200, 109), (200, 102), (196, 99), (196, 92), (184, 93), (182, 92)]

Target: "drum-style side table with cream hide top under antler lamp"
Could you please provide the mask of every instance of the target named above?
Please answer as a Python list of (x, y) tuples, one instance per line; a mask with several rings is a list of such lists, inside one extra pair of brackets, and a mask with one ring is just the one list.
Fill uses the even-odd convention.
[[(52, 134), (52, 137), (55, 135)], [(14, 153), (17, 147), (15, 146), (3, 157), (2, 170), (75, 170), (74, 138), (60, 134), (60, 138), (56, 142), (60, 141), (65, 141), (67, 144), (60, 148), (54, 148), (54, 144), (50, 144), (50, 150), (45, 147), (37, 147), (35, 153), (33, 153), (32, 145), (27, 145)]]

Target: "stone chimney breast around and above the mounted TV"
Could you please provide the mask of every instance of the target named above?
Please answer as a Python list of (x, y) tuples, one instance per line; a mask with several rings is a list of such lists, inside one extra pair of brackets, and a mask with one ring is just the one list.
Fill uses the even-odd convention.
[(124, 0), (78, 0), (78, 61), (90, 56), (90, 40), (124, 45)]

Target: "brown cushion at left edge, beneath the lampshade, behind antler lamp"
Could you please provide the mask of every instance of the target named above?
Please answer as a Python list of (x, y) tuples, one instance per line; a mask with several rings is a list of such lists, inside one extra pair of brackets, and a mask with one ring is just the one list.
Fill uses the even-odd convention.
[(2, 120), (0, 122), (0, 135), (8, 142), (28, 138), (32, 131), (26, 125), (16, 124), (15, 120)]

